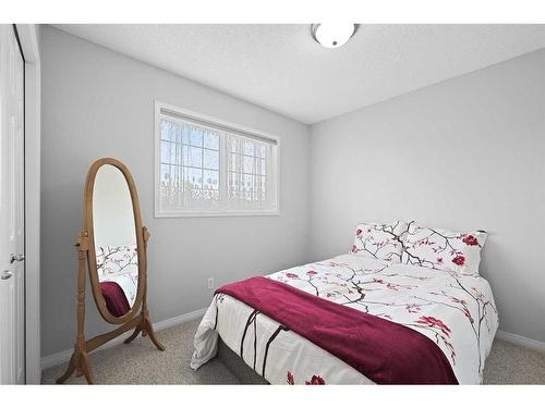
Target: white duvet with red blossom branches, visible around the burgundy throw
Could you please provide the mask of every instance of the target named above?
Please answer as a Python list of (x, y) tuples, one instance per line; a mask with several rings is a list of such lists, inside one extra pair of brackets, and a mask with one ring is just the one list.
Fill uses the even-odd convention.
[[(498, 327), (492, 290), (482, 277), (352, 255), (267, 277), (415, 330), (440, 348), (460, 384), (482, 382)], [(271, 384), (373, 383), (328, 351), (225, 294), (214, 297), (197, 329), (193, 369), (216, 356), (218, 336)]]

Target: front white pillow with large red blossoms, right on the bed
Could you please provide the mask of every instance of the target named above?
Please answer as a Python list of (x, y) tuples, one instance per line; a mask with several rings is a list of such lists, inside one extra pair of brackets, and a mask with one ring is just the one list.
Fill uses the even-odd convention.
[(479, 276), (484, 231), (451, 232), (409, 223), (403, 240), (402, 263)]

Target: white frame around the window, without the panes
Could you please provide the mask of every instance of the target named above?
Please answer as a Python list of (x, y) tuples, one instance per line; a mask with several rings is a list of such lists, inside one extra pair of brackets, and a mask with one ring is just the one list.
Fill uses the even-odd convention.
[[(198, 126), (210, 127), (218, 126), (220, 132), (231, 132), (234, 135), (240, 135), (242, 137), (254, 137), (255, 139), (270, 140), (274, 143), (275, 148), (272, 149), (271, 157), (271, 181), (272, 189), (271, 191), (276, 196), (276, 205), (272, 209), (256, 209), (256, 210), (189, 210), (189, 211), (166, 211), (160, 209), (160, 169), (161, 169), (161, 120), (168, 118), (164, 111), (169, 111), (179, 118), (179, 121), (196, 122)], [(177, 118), (170, 118), (175, 121)], [(245, 136), (247, 135), (247, 136)], [(227, 185), (221, 183), (221, 177), (227, 177), (227, 159), (225, 149), (223, 137), (219, 140), (219, 176), (220, 176), (220, 197), (225, 194), (221, 190), (221, 186)], [(278, 136), (256, 131), (247, 126), (239, 125), (235, 123), (219, 120), (217, 118), (208, 116), (203, 113), (191, 111), (189, 109), (179, 108), (170, 103), (155, 101), (155, 138), (154, 138), (154, 150), (155, 150), (155, 169), (154, 169), (154, 215), (157, 219), (161, 218), (198, 218), (198, 217), (259, 217), (259, 215), (279, 215), (280, 214), (280, 138)]]

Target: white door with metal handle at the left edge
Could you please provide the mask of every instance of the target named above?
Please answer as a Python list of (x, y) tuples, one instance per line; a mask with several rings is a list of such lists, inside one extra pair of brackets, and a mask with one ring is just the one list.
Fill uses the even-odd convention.
[(0, 25), (0, 384), (25, 383), (24, 61)]

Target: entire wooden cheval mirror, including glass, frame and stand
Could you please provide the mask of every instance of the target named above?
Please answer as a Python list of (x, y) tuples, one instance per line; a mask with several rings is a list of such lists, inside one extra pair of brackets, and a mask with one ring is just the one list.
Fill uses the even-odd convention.
[[(95, 383), (88, 354), (134, 329), (124, 341), (142, 333), (159, 349), (147, 310), (147, 258), (149, 233), (142, 226), (138, 196), (126, 166), (116, 159), (97, 160), (87, 173), (84, 193), (84, 230), (77, 236), (77, 338), (66, 372), (76, 371)], [(100, 316), (118, 329), (85, 341), (85, 269)]]

